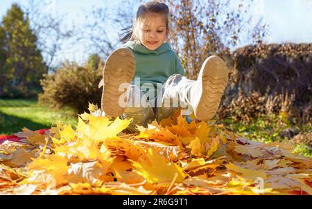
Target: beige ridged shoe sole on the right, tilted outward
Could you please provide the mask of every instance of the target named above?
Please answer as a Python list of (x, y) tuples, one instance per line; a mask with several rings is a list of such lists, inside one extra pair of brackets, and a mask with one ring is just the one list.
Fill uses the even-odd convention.
[(220, 57), (207, 58), (198, 75), (201, 81), (202, 96), (194, 115), (198, 120), (211, 120), (216, 115), (220, 100), (228, 82), (228, 70)]

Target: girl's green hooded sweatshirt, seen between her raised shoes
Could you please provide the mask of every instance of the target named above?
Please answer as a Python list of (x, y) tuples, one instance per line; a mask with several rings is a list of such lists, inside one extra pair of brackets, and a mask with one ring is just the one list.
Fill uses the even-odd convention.
[(155, 95), (148, 93), (148, 89), (141, 89), (146, 93), (146, 96), (149, 96), (150, 100), (159, 93), (160, 89), (157, 89), (157, 83), (158, 85), (165, 84), (166, 80), (173, 74), (185, 75), (177, 54), (167, 42), (156, 50), (149, 50), (138, 41), (128, 41), (124, 46), (130, 48), (135, 55), (135, 77), (131, 84), (138, 85), (135, 82), (136, 78), (140, 80), (140, 87), (143, 84), (146, 86), (147, 83), (153, 84), (156, 89)]

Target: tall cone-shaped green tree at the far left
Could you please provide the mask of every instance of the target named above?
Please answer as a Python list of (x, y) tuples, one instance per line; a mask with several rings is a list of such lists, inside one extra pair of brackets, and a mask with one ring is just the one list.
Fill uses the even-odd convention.
[(17, 4), (12, 4), (3, 17), (2, 25), (6, 37), (7, 57), (4, 68), (10, 89), (8, 91), (15, 89), (27, 94), (30, 89), (40, 88), (40, 79), (46, 73), (46, 66), (28, 17)]

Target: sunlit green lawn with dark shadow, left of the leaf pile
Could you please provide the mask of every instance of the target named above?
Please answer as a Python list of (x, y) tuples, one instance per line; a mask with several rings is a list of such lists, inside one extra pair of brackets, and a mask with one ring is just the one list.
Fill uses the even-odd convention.
[(70, 109), (51, 110), (31, 99), (0, 99), (0, 134), (14, 134), (23, 127), (50, 128), (56, 122), (77, 125), (78, 116)]

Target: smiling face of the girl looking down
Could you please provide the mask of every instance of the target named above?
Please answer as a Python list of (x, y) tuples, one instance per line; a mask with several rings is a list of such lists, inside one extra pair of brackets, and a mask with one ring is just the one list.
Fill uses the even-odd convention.
[(147, 14), (145, 24), (139, 28), (141, 44), (149, 50), (155, 50), (164, 44), (168, 35), (166, 22), (162, 15)]

